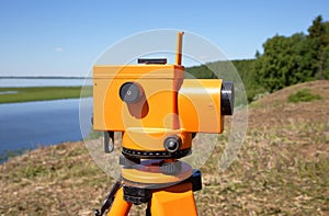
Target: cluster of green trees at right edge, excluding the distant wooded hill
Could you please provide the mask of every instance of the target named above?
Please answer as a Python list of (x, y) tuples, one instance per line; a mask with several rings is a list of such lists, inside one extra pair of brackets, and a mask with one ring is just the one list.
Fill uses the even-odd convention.
[(308, 35), (275, 35), (257, 53), (256, 82), (269, 91), (314, 79), (329, 79), (329, 22), (319, 15)]

